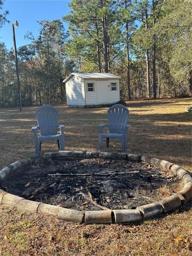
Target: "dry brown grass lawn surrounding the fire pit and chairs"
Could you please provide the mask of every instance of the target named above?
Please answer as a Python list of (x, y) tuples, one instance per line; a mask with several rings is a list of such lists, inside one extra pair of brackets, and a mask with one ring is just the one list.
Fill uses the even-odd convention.
[[(168, 160), (191, 171), (191, 114), (185, 112), (190, 105), (190, 98), (128, 102), (132, 127), (127, 152)], [(66, 126), (65, 149), (98, 150), (97, 125), (107, 123), (108, 108), (57, 108), (59, 124)], [(34, 154), (31, 127), (36, 126), (35, 110), (0, 110), (0, 168)], [(102, 150), (107, 151), (105, 143)], [(56, 141), (42, 143), (42, 154), (56, 151)], [(120, 142), (112, 140), (108, 151), (121, 152)], [(144, 222), (87, 226), (0, 204), (0, 256), (191, 254), (190, 202), (179, 211)]]

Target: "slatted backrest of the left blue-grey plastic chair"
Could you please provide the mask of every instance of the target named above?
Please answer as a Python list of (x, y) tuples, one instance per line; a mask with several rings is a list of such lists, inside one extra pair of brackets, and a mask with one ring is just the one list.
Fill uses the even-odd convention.
[(56, 108), (43, 105), (35, 113), (41, 135), (57, 134), (58, 110)]

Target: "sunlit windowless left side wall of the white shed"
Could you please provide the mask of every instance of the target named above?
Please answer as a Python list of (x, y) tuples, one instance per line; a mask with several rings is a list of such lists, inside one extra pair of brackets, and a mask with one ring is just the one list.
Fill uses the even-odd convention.
[(84, 80), (78, 76), (73, 76), (66, 82), (67, 105), (84, 105), (85, 90)]

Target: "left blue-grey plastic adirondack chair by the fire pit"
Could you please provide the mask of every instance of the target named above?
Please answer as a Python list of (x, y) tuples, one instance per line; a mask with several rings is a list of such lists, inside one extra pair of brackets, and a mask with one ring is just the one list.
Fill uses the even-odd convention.
[[(32, 127), (34, 134), (35, 153), (41, 151), (42, 140), (57, 140), (58, 148), (64, 150), (64, 125), (58, 125), (58, 110), (51, 105), (43, 105), (36, 110), (38, 126)], [(58, 127), (60, 134), (57, 133)], [(40, 130), (40, 136), (37, 131)]]

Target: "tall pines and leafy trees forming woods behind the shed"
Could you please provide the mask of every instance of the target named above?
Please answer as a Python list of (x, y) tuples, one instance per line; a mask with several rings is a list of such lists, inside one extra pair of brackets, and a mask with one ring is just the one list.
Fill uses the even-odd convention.
[[(23, 105), (65, 103), (71, 72), (120, 76), (122, 99), (186, 96), (192, 89), (188, 0), (72, 0), (18, 49)], [(17, 106), (14, 53), (0, 43), (0, 106)]]

